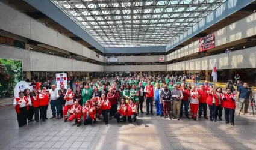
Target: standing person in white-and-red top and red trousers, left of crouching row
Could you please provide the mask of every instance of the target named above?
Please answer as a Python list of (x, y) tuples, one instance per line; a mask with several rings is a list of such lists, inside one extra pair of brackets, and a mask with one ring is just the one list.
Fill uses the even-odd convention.
[(64, 100), (66, 100), (64, 109), (63, 109), (63, 116), (64, 116), (64, 122), (67, 122), (67, 112), (71, 110), (73, 106), (73, 98), (75, 94), (73, 94), (72, 90), (70, 88), (67, 88), (67, 93), (64, 96)]

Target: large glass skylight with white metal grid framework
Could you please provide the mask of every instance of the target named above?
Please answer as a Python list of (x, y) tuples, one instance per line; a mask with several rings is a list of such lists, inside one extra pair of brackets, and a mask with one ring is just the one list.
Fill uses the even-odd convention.
[(226, 0), (55, 0), (104, 47), (166, 46)]

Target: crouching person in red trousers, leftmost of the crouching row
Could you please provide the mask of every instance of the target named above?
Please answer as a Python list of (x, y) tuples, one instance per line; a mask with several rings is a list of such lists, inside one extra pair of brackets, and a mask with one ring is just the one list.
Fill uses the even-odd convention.
[(77, 120), (77, 127), (81, 125), (82, 106), (79, 105), (78, 101), (75, 101), (70, 110), (69, 121)]

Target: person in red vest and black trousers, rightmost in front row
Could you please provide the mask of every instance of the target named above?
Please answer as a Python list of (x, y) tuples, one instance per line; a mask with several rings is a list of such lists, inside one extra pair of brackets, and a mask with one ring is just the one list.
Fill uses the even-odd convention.
[(236, 109), (235, 99), (236, 99), (236, 94), (233, 94), (231, 92), (231, 89), (227, 88), (226, 93), (223, 94), (223, 97), (222, 97), (222, 100), (223, 100), (222, 104), (225, 111), (226, 124), (230, 122), (231, 125), (235, 125), (234, 124), (234, 116), (235, 116), (235, 109)]

